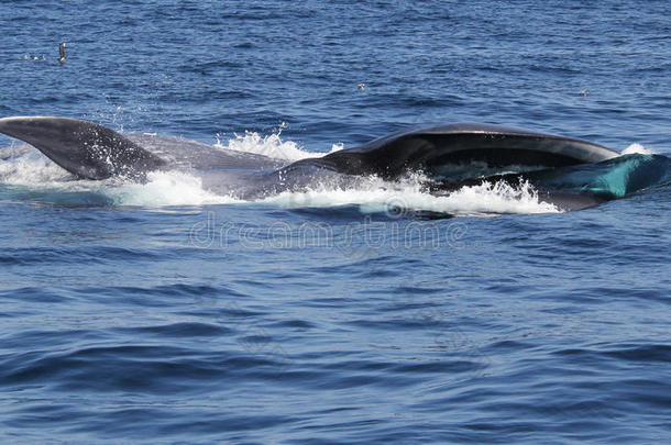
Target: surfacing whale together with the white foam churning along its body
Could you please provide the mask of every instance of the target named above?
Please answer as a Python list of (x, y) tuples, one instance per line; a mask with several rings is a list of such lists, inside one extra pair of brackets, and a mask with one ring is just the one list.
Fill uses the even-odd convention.
[(0, 119), (46, 155), (2, 148), (0, 193), (67, 205), (354, 207), (491, 215), (579, 210), (669, 182), (669, 158), (492, 125), (411, 129), (360, 147), (301, 152), (279, 135), (228, 146), (122, 135), (66, 118)]

